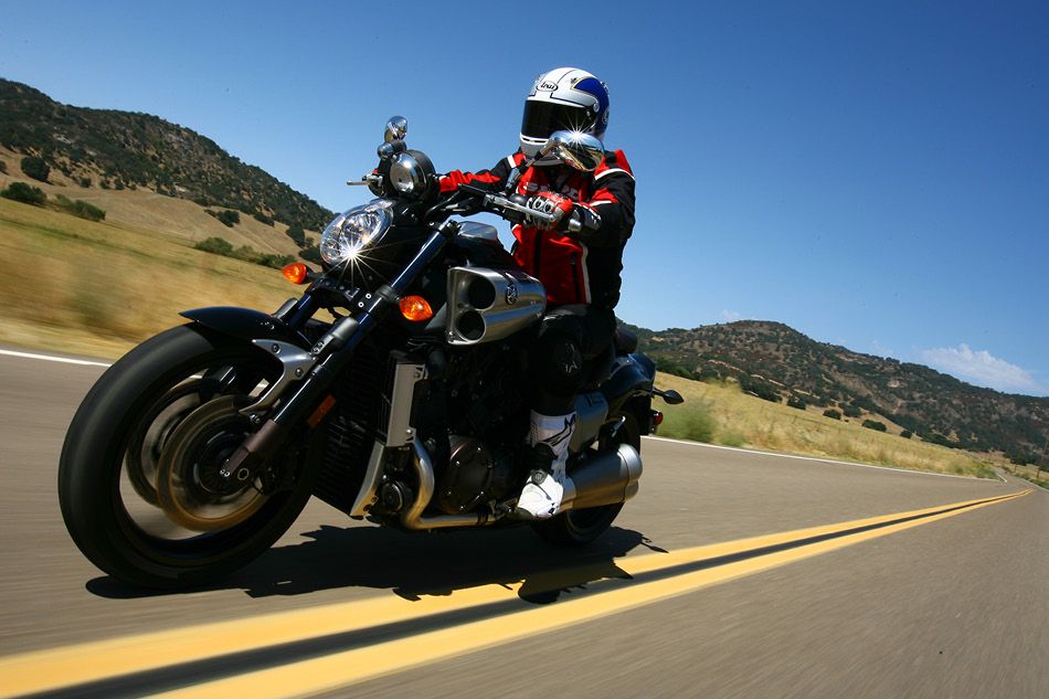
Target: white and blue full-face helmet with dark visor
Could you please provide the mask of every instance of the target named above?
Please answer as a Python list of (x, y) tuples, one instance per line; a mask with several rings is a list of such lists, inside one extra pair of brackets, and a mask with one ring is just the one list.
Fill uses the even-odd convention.
[[(608, 126), (608, 87), (580, 68), (554, 68), (536, 78), (524, 100), (521, 151), (534, 157), (558, 130), (583, 131), (604, 137)], [(547, 156), (534, 165), (553, 165)]]

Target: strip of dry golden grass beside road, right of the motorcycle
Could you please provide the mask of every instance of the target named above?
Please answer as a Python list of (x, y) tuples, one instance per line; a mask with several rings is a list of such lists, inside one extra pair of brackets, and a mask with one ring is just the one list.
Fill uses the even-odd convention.
[[(685, 405), (664, 410), (659, 434), (790, 454), (822, 456), (863, 464), (993, 478), (984, 455), (904, 439), (862, 427), (857, 422), (770, 403), (742, 393), (735, 384), (711, 384), (659, 374), (658, 384), (679, 391)], [(695, 426), (703, 426), (696, 433)]]

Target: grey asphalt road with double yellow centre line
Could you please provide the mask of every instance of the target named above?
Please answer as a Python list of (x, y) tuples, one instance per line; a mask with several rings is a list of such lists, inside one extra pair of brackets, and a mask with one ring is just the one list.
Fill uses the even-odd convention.
[(1049, 696), (1049, 496), (1013, 479), (646, 439), (583, 551), (314, 501), (220, 585), (126, 587), (55, 498), (102, 370), (0, 356), (0, 696)]

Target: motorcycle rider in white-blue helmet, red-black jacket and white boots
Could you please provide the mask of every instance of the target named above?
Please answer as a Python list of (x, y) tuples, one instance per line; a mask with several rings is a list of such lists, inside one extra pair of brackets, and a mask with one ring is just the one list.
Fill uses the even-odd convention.
[[(574, 67), (540, 75), (524, 99), (521, 147), (489, 170), (455, 170), (441, 189), (470, 183), (501, 190), (516, 168), (536, 157), (557, 130), (598, 139), (608, 125), (608, 88)], [(605, 151), (593, 172), (582, 172), (555, 156), (531, 162), (515, 184), (528, 206), (553, 214), (554, 222), (529, 219), (513, 226), (512, 253), (547, 289), (547, 315), (529, 352), (532, 372), (531, 473), (516, 513), (545, 519), (564, 495), (564, 466), (575, 430), (575, 396), (585, 381), (585, 360), (600, 354), (615, 332), (623, 248), (634, 229), (634, 174), (622, 150)], [(583, 224), (569, 232), (569, 222)]]

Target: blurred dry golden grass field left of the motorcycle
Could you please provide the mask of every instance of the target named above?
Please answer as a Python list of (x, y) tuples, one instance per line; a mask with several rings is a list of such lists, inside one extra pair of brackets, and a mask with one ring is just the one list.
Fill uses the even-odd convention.
[(295, 295), (278, 271), (188, 245), (0, 199), (0, 341), (116, 357), (180, 310), (273, 310)]

